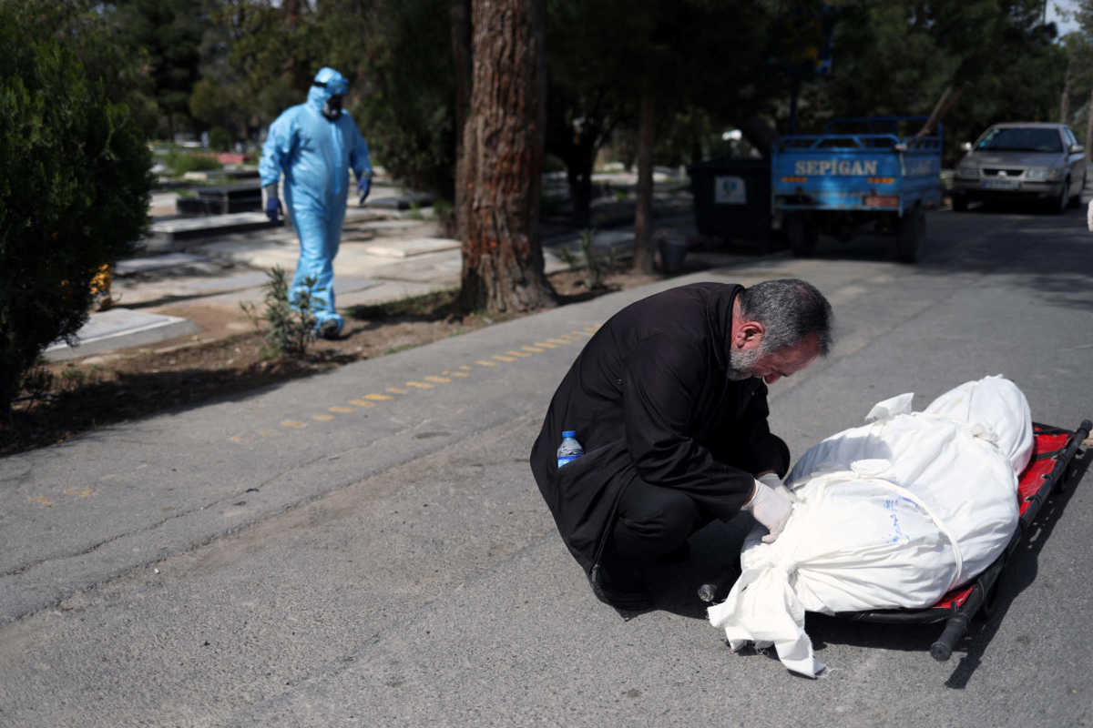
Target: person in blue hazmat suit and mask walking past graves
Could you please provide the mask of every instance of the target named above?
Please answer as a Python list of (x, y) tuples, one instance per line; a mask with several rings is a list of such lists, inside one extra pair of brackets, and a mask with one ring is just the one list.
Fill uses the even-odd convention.
[(307, 102), (286, 109), (270, 124), (258, 165), (267, 195), (266, 214), (274, 223), (284, 213), (278, 196), (278, 182), (284, 172), (284, 199), (299, 237), (299, 261), (289, 300), (314, 277), (312, 306), (316, 332), (324, 338), (337, 338), (344, 324), (334, 310), (333, 260), (345, 218), (349, 169), (356, 178), (360, 202), (368, 196), (372, 181), (368, 144), (342, 109), (348, 89), (341, 73), (320, 69)]

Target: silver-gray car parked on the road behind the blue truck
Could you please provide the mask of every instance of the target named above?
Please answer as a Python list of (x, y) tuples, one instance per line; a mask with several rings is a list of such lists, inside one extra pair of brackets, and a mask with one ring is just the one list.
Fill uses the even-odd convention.
[(1061, 213), (1081, 201), (1085, 147), (1061, 123), (998, 123), (965, 144), (950, 192), (953, 210), (969, 202), (1032, 199)]

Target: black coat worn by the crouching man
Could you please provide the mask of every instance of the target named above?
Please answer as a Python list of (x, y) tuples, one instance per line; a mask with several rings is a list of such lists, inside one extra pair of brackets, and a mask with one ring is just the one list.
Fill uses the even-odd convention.
[[(766, 385), (729, 379), (732, 301), (742, 290), (700, 283), (632, 303), (562, 380), (531, 470), (586, 572), (635, 478), (683, 490), (708, 517), (729, 518), (751, 496), (754, 474), (789, 468), (789, 449), (766, 423)], [(585, 455), (559, 468), (562, 430), (577, 431)]]

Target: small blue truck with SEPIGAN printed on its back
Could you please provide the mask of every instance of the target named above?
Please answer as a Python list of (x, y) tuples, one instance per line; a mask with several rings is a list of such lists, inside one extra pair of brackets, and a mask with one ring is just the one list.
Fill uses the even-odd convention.
[(780, 138), (771, 154), (771, 213), (795, 255), (821, 234), (849, 240), (871, 228), (894, 235), (897, 260), (914, 263), (926, 211), (941, 204), (941, 127), (926, 117), (832, 120), (822, 134)]

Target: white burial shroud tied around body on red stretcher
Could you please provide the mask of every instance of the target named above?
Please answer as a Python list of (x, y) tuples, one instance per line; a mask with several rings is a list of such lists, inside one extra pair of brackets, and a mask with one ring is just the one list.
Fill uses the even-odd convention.
[(824, 665), (804, 612), (932, 606), (986, 569), (1018, 524), (1018, 476), (1033, 449), (1029, 403), (987, 377), (910, 410), (914, 394), (878, 403), (863, 427), (809, 449), (786, 477), (797, 494), (773, 544), (756, 526), (742, 573), (709, 608), (736, 651), (774, 645), (814, 677)]

